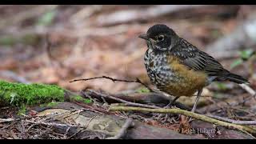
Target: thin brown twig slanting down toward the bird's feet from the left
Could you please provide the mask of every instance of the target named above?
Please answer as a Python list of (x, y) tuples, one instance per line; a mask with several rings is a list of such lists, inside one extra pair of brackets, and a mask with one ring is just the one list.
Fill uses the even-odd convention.
[(128, 102), (128, 101), (125, 101), (125, 100), (123, 100), (123, 99), (113, 97), (113, 96), (111, 96), (111, 95), (109, 95), (109, 94), (101, 94), (101, 93), (98, 93), (98, 92), (96, 92), (96, 91), (94, 91), (94, 90), (88, 90), (88, 91), (90, 92), (90, 94), (97, 94), (97, 95), (99, 95), (99, 96), (101, 96), (101, 97), (103, 97), (103, 98), (111, 98), (111, 99), (114, 99), (114, 100), (116, 100), (116, 101), (118, 101), (118, 102), (124, 102), (124, 103), (126, 103), (127, 105), (129, 105), (129, 106), (140, 106), (140, 107), (153, 108), (153, 109), (158, 109), (158, 108), (160, 108), (160, 107), (158, 107), (158, 106), (150, 106), (150, 105), (141, 104), (141, 103)]

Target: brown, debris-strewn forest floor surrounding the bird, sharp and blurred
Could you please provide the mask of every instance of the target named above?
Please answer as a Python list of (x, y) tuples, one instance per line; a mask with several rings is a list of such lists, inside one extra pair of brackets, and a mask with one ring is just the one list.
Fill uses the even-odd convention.
[[(154, 87), (144, 66), (146, 43), (138, 35), (155, 23), (164, 23), (213, 55), (227, 70), (248, 78), (250, 87), (256, 90), (256, 41), (241, 40), (230, 50), (226, 45), (219, 49), (212, 45), (227, 35), (232, 38), (255, 12), (255, 6), (235, 5), (0, 6), (0, 79), (54, 84), (90, 99), (1, 107), (0, 138), (255, 138), (256, 132), (199, 120), (188, 122), (180, 114), (111, 111), (113, 103), (168, 104), (168, 98), (150, 93), (136, 82), (70, 82), (106, 75), (139, 78)], [(203, 90), (197, 113), (256, 121), (254, 93), (231, 82), (214, 82)], [(190, 109), (194, 99), (180, 98), (176, 107)], [(256, 131), (255, 126), (251, 127)], [(122, 130), (128, 130), (126, 136)]]

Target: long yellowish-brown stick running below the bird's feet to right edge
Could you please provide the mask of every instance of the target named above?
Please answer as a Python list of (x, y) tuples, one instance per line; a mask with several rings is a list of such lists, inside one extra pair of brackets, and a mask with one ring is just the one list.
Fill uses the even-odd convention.
[(131, 106), (110, 106), (110, 111), (146, 111), (153, 113), (162, 113), (162, 114), (182, 114), (190, 118), (195, 118), (202, 120), (204, 122), (210, 122), (218, 126), (224, 126), (234, 130), (241, 130), (242, 132), (249, 132), (250, 134), (256, 134), (256, 130), (253, 127), (241, 126), (229, 122), (222, 122), (218, 119), (207, 117), (206, 115), (196, 114), (186, 110), (180, 109), (147, 109), (142, 107), (131, 107)]

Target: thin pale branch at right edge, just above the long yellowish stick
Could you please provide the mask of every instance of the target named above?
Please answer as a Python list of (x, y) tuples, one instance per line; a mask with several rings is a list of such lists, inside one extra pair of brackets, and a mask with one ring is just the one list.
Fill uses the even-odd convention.
[(256, 125), (256, 121), (236, 121), (236, 120), (230, 119), (230, 118), (222, 118), (217, 115), (211, 115), (211, 114), (206, 114), (206, 115), (210, 118), (215, 118), (215, 119), (218, 119), (223, 122), (230, 122), (230, 123), (237, 124), (237, 125)]

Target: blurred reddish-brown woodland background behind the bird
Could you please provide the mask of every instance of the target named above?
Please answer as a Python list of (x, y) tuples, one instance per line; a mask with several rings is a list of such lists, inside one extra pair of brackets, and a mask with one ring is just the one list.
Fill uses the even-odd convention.
[[(57, 84), (74, 91), (88, 87), (111, 93), (138, 90), (136, 83), (69, 81), (107, 75), (140, 78), (150, 84), (143, 64), (146, 43), (138, 34), (146, 33), (156, 23), (164, 23), (218, 58), (226, 69), (249, 78), (256, 88), (256, 25), (252, 22), (249, 26), (248, 38), (239, 35), (243, 32), (236, 32), (248, 19), (254, 20), (255, 12), (255, 6), (236, 5), (0, 6), (0, 78)], [(234, 34), (238, 34), (238, 41), (225, 41)], [(222, 38), (226, 43), (215, 49), (214, 43)], [(46, 50), (47, 41), (51, 43), (50, 51)], [(232, 83), (216, 82), (207, 89), (232, 88)]]

